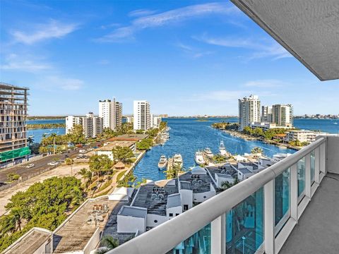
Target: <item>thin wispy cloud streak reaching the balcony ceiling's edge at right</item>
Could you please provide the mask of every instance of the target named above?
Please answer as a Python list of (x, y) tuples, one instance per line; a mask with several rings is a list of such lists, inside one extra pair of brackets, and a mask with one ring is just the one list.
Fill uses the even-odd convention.
[(194, 37), (194, 39), (216, 46), (251, 49), (253, 53), (248, 57), (249, 60), (263, 57), (272, 57), (273, 59), (292, 57), (286, 49), (274, 40), (239, 37), (208, 37), (207, 35)]

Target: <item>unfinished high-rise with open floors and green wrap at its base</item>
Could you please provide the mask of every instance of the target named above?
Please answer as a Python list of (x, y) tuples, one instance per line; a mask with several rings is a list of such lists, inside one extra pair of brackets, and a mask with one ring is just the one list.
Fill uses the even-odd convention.
[(28, 90), (0, 83), (0, 162), (30, 155), (26, 133)]

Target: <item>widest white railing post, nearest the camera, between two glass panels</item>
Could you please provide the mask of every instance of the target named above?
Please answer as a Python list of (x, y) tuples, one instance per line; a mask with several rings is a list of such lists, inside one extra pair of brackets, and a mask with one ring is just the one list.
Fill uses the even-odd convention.
[(210, 223), (210, 253), (226, 253), (225, 214)]

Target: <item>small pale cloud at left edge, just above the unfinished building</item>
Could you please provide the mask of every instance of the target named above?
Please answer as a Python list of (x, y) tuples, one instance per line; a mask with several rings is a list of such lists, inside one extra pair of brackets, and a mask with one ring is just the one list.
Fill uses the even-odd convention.
[(39, 63), (35, 60), (24, 58), (16, 54), (10, 54), (6, 57), (5, 63), (0, 66), (2, 70), (25, 71), (28, 73), (37, 73), (52, 68), (48, 63)]

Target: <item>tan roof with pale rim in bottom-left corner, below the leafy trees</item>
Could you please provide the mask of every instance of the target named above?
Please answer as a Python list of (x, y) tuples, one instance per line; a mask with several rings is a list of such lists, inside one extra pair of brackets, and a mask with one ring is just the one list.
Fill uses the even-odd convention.
[(18, 239), (9, 249), (6, 250), (6, 254), (33, 254), (35, 250), (40, 248), (44, 242), (52, 236), (52, 231), (47, 229), (40, 229), (34, 227), (30, 229), (26, 234)]

